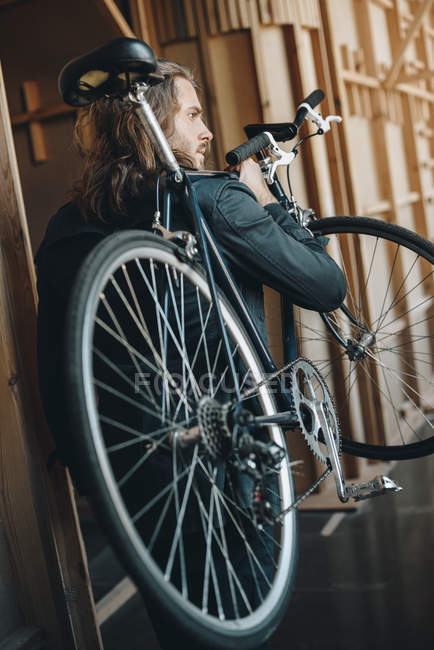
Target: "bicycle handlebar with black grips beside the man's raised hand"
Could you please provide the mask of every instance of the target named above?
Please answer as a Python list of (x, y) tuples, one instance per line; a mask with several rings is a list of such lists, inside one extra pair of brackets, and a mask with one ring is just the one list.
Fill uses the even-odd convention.
[[(314, 108), (317, 106), (323, 99), (325, 95), (322, 90), (314, 90), (310, 95), (302, 101), (298, 106), (297, 113), (295, 114), (294, 122), (289, 122), (286, 124), (278, 133), (274, 133), (274, 139), (277, 142), (283, 142), (285, 140), (292, 140), (297, 135), (298, 129), (302, 125), (306, 115), (308, 113), (307, 106)], [(257, 154), (261, 149), (265, 149), (271, 143), (270, 137), (266, 131), (267, 125), (264, 124), (264, 131), (258, 133), (243, 142), (235, 149), (228, 151), (226, 154), (226, 162), (229, 165), (239, 165), (243, 160), (250, 158), (254, 154)]]

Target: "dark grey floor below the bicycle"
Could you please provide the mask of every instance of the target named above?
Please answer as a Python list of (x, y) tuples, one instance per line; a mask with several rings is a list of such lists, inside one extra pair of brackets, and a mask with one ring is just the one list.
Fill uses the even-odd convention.
[[(346, 514), (300, 513), (295, 588), (270, 650), (434, 648), (434, 456), (390, 475), (403, 492)], [(94, 523), (83, 523), (98, 600), (123, 573)], [(138, 595), (102, 636), (104, 650), (159, 650)]]

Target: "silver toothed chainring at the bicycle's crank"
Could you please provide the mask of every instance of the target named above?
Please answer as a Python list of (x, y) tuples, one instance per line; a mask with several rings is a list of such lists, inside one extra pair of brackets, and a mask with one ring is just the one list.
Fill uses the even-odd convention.
[(287, 369), (294, 407), (300, 422), (300, 430), (313, 454), (327, 464), (327, 447), (322, 436), (315, 403), (323, 402), (338, 452), (341, 452), (339, 419), (327, 384), (314, 364), (298, 357)]

